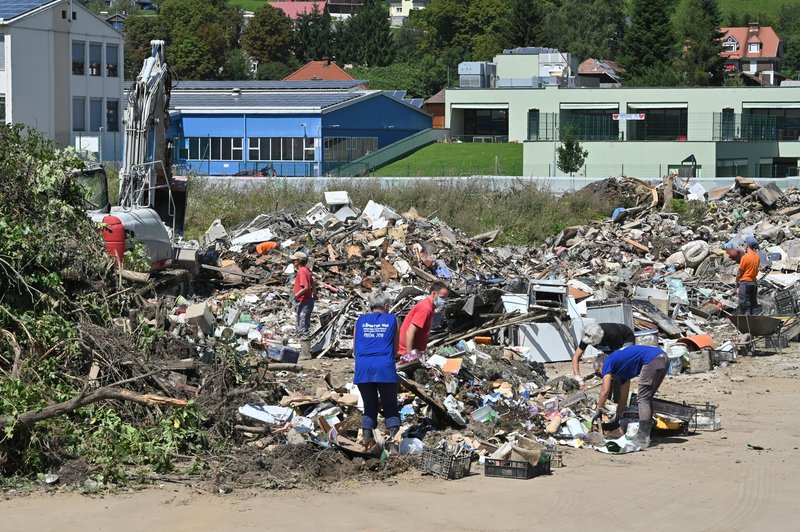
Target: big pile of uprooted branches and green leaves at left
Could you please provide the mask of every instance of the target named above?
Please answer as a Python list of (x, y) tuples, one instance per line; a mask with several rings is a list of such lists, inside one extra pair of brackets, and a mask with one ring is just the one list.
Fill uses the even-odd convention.
[(153, 330), (135, 318), (130, 334), (111, 327), (113, 316), (136, 316), (137, 294), (121, 289), (83, 211), (82, 165), (38, 133), (0, 127), (2, 475), (79, 456), (124, 478), (128, 465), (165, 469), (203, 444), (190, 403), (150, 393), (162, 370), (142, 367), (140, 348)]

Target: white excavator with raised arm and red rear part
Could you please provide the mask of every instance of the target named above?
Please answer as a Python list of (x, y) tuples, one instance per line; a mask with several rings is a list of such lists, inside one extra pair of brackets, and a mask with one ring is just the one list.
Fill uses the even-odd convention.
[(167, 138), (173, 74), (164, 41), (150, 45), (152, 53), (128, 93), (119, 205), (109, 205), (105, 169), (94, 164), (79, 171), (88, 191), (85, 208), (102, 224), (106, 249), (119, 263), (126, 250), (141, 242), (152, 271), (187, 266), (191, 271), (196, 251), (175, 244), (183, 232), (186, 183), (172, 175), (172, 142)]

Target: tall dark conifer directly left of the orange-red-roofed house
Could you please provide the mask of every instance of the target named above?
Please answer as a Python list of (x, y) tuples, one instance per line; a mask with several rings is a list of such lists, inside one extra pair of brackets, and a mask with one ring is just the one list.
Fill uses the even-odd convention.
[(717, 0), (686, 0), (681, 6), (677, 28), (683, 50), (677, 66), (689, 86), (722, 85), (721, 18)]

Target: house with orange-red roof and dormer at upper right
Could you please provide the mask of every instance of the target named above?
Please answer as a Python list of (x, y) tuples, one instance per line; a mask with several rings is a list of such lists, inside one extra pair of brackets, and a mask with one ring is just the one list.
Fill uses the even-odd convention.
[(756, 85), (777, 86), (781, 81), (783, 43), (770, 26), (720, 28), (724, 68)]

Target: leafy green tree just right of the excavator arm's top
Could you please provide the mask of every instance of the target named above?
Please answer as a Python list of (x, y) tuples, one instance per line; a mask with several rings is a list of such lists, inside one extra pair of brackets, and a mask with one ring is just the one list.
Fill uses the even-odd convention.
[[(148, 17), (152, 18), (152, 17)], [(217, 79), (237, 48), (242, 13), (225, 0), (164, 0), (157, 17), (168, 33), (167, 58), (182, 79)]]

